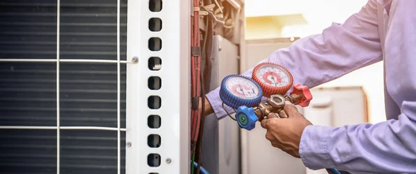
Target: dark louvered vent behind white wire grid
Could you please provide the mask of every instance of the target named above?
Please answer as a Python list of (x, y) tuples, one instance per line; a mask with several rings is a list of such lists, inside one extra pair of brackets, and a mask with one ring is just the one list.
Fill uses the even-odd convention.
[(0, 1), (0, 173), (125, 173), (119, 1)]

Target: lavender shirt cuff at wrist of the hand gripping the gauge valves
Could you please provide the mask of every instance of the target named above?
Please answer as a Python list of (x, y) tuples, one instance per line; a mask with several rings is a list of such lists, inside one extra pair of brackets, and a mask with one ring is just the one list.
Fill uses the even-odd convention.
[(329, 155), (331, 130), (332, 128), (322, 125), (308, 125), (304, 129), (300, 138), (299, 154), (307, 168), (318, 170), (336, 166)]

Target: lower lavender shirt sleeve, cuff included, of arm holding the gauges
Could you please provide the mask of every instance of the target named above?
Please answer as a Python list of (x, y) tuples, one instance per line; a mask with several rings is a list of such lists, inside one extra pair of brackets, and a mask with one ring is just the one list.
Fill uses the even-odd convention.
[(404, 101), (398, 120), (330, 128), (309, 125), (300, 157), (313, 170), (357, 173), (416, 173), (416, 101)]

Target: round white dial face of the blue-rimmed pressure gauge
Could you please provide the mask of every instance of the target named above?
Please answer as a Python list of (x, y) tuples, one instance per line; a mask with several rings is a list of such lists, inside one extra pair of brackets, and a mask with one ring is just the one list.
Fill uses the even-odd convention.
[(225, 81), (225, 87), (234, 96), (239, 98), (251, 99), (259, 96), (259, 88), (254, 82), (242, 78), (242, 77), (231, 77)]

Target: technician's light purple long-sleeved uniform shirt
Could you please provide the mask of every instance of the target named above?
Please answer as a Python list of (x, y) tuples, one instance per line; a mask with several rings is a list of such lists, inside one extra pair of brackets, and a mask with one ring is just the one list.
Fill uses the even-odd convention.
[[(370, 0), (344, 24), (297, 40), (261, 61), (288, 68), (294, 84), (315, 87), (382, 60), (387, 121), (339, 128), (309, 125), (300, 142), (306, 167), (416, 173), (416, 0)], [(252, 69), (243, 73), (251, 74)], [(227, 114), (218, 95), (219, 87), (207, 99), (222, 119)]]

